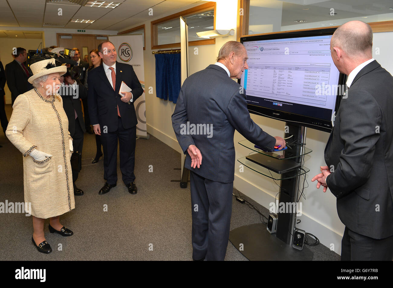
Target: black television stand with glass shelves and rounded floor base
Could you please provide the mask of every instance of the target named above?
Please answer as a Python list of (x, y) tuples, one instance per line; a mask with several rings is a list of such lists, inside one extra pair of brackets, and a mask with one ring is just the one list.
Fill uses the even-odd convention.
[[(305, 147), (306, 127), (296, 123), (286, 123), (286, 127), (287, 132), (284, 138), (293, 135), (286, 140), (286, 146), (288, 147), (286, 150), (265, 152), (255, 148), (254, 144), (248, 140), (239, 141), (239, 144), (256, 153), (281, 159), (281, 161), (289, 159), (290, 161), (296, 161), (300, 163), (300, 167), (277, 174), (266, 168), (268, 163), (264, 163), (263, 167), (249, 161), (246, 157), (237, 161), (265, 177), (280, 181), (279, 203), (291, 203), (285, 206), (296, 207), (299, 200), (301, 178), (302, 176), (305, 177), (305, 174), (310, 171), (302, 165), (302, 159), (304, 155), (309, 154), (312, 150)], [(278, 212), (276, 233), (270, 234), (266, 229), (266, 224), (256, 223), (231, 230), (229, 240), (249, 260), (312, 260), (313, 253), (305, 245), (303, 250), (292, 247), (293, 233), (296, 227), (296, 210), (285, 211), (285, 213)]]

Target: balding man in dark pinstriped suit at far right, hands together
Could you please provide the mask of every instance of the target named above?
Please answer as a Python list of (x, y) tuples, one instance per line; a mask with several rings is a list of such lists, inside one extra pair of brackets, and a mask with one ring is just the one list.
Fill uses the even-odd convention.
[(337, 197), (345, 225), (341, 260), (393, 260), (393, 77), (372, 57), (373, 31), (350, 21), (330, 49), (348, 75), (321, 173), (312, 178)]

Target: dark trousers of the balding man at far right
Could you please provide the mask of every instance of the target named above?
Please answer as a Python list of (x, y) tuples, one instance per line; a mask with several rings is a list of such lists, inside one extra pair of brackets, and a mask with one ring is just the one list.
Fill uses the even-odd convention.
[(373, 239), (345, 227), (341, 241), (341, 261), (392, 261), (393, 236)]

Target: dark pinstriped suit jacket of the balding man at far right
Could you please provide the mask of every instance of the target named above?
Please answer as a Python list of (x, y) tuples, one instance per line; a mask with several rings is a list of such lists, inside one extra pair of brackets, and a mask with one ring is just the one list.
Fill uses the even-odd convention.
[(393, 235), (393, 77), (378, 62), (354, 78), (334, 121), (325, 161), (342, 223), (375, 239)]

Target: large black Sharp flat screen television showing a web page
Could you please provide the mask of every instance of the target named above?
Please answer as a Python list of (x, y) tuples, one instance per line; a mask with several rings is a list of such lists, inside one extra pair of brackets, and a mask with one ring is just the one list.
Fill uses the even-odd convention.
[(330, 132), (346, 76), (330, 52), (335, 28), (245, 36), (239, 80), (250, 113)]

